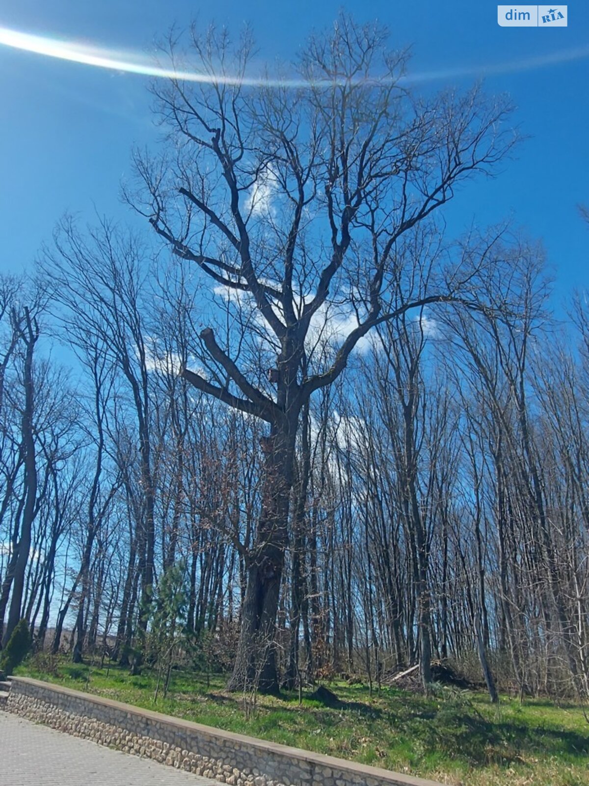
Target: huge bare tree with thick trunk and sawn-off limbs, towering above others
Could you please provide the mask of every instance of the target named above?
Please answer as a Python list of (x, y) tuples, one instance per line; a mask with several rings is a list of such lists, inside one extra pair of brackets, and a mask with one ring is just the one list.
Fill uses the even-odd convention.
[[(412, 92), (406, 53), (388, 48), (378, 24), (339, 17), (330, 34), (309, 39), (296, 79), (255, 88), (244, 79), (248, 35), (233, 48), (225, 31), (193, 30), (190, 43), (190, 63), (210, 83), (155, 84), (168, 142), (159, 158), (137, 154), (141, 185), (130, 200), (240, 315), (223, 328), (203, 307), (200, 367), (182, 373), (268, 424), (229, 686), (255, 678), (274, 691), (302, 410), (375, 325), (427, 304), (476, 305), (485, 254), (430, 264), (399, 248), (459, 185), (491, 173), (514, 134), (504, 127), (507, 103), (478, 89)], [(186, 68), (175, 44), (167, 53)], [(334, 353), (316, 351), (326, 340)]]

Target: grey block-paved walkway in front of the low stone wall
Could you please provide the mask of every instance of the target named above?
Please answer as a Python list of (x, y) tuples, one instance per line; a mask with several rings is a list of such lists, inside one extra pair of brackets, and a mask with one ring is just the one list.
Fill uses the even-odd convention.
[(221, 786), (0, 711), (0, 786)]

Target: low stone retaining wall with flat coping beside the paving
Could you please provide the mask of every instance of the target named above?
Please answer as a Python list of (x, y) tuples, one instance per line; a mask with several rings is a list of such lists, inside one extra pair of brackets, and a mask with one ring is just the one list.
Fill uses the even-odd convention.
[(5, 706), (9, 712), (230, 786), (439, 786), (48, 682), (24, 677), (12, 681)]

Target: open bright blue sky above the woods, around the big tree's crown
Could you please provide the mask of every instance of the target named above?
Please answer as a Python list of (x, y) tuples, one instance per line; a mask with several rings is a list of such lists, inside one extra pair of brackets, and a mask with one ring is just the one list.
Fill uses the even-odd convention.
[[(5, 0), (0, 26), (52, 38), (76, 39), (115, 50), (145, 52), (171, 24), (192, 18), (238, 29), (254, 28), (261, 59), (290, 59), (313, 28), (324, 28), (340, 8), (358, 20), (378, 18), (394, 46), (412, 45), (412, 72), (473, 72), (491, 67), (489, 92), (507, 92), (516, 122), (529, 135), (516, 160), (492, 181), (478, 181), (448, 210), (452, 230), (511, 217), (543, 240), (556, 276), (556, 296), (589, 288), (589, 227), (576, 206), (589, 204), (589, 3), (569, 4), (567, 28), (500, 28), (496, 4), (479, 2), (331, 2), (331, 0)], [(517, 7), (517, 6), (516, 6)], [(585, 57), (579, 57), (583, 50)], [(506, 64), (575, 59), (513, 72)], [(474, 76), (423, 85), (467, 87)], [(31, 263), (64, 211), (92, 219), (100, 213), (136, 221), (119, 201), (130, 173), (133, 145), (152, 145), (148, 79), (105, 71), (0, 46), (0, 270)]]

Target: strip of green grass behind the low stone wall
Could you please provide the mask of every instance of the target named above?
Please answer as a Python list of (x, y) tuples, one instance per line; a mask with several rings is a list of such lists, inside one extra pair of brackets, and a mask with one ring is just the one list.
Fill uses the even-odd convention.
[(174, 672), (165, 700), (153, 702), (155, 678), (126, 670), (60, 661), (57, 672), (17, 674), (155, 709), (180, 718), (464, 786), (589, 784), (589, 723), (580, 707), (502, 697), (499, 707), (475, 692), (440, 688), (431, 699), (384, 688), (372, 698), (361, 685), (333, 683), (342, 706), (298, 696), (258, 697), (249, 719), (243, 696), (220, 677)]

